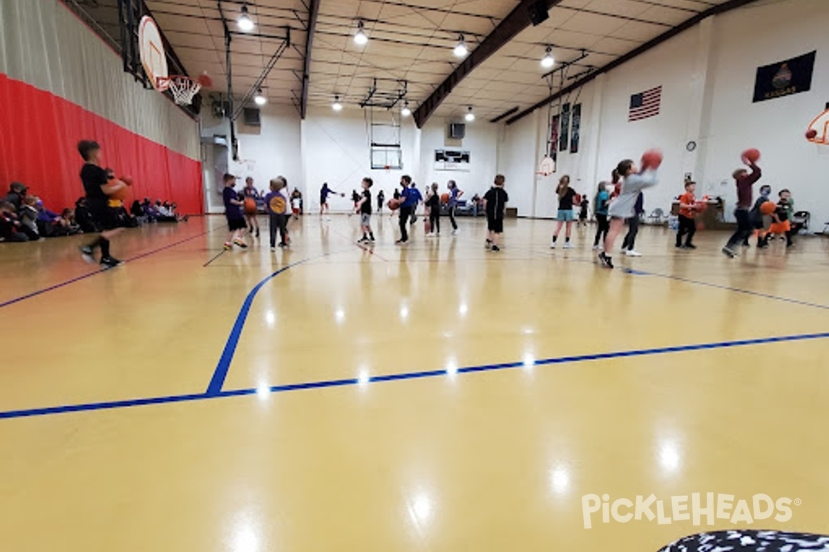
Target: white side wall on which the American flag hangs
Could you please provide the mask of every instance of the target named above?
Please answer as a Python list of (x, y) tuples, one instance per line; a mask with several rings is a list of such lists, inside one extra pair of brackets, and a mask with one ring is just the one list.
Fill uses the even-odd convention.
[[(764, 182), (775, 190), (792, 190), (797, 208), (810, 210), (813, 225), (822, 228), (829, 220), (829, 147), (815, 146), (803, 134), (829, 101), (829, 35), (822, 31), (826, 21), (827, 0), (761, 1), (711, 17), (600, 75), (584, 87), (579, 100), (581, 151), (575, 156), (560, 152), (555, 175), (536, 179), (531, 209), (526, 205), (531, 189), (521, 185), (521, 193), (514, 196), (519, 213), (554, 214), (551, 190), (560, 175), (570, 174), (579, 192), (594, 190), (618, 161), (636, 160), (642, 151), (659, 147), (665, 161), (661, 184), (645, 194), (648, 211), (668, 209), (681, 193), (684, 175), (691, 172), (700, 183), (698, 194), (721, 194), (730, 217), (736, 195), (731, 172), (740, 164), (741, 151), (757, 147), (763, 152)], [(810, 92), (752, 103), (757, 67), (811, 50), (818, 53)], [(661, 113), (628, 122), (631, 94), (660, 84)], [(523, 173), (531, 141), (535, 166), (541, 161), (545, 118), (543, 108), (507, 127), (499, 144), (498, 168), (508, 177)], [(693, 152), (686, 151), (691, 140), (698, 145)]]

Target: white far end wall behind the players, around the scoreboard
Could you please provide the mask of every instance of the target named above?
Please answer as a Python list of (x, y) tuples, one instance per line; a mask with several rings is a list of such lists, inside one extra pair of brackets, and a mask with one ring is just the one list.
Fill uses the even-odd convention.
[[(364, 176), (374, 180), (372, 194), (384, 190), (389, 199), (402, 175), (410, 175), (420, 190), (438, 182), (441, 192), (446, 191), (448, 180), (455, 180), (466, 197), (472, 197), (486, 192), (497, 172), (497, 133), (501, 127), (486, 121), (468, 123), (466, 137), (458, 141), (447, 138), (447, 119), (433, 118), (418, 130), (411, 118), (405, 118), (400, 133), (403, 169), (371, 170), (369, 128), (362, 110), (347, 108), (336, 113), (330, 108), (312, 108), (305, 121), (300, 121), (296, 110), (290, 108), (266, 107), (261, 115), (259, 129), (237, 129), (240, 162), (231, 162), (230, 172), (243, 178), (252, 175), (259, 189), (275, 175), (285, 175), (292, 189), (297, 186), (303, 192), (305, 209), (312, 213), (319, 209), (323, 182), (346, 194), (344, 198), (329, 199), (332, 211), (346, 212), (351, 209), (351, 190), (360, 189)], [(205, 139), (214, 135), (230, 137), (230, 128), (226, 119), (215, 119), (205, 112), (201, 135)], [(434, 150), (447, 147), (470, 151), (469, 171), (434, 168)], [(221, 213), (221, 183), (215, 182), (210, 173), (211, 152), (212, 146), (203, 147), (206, 199), (210, 212)], [(526, 163), (530, 178), (532, 155)]]

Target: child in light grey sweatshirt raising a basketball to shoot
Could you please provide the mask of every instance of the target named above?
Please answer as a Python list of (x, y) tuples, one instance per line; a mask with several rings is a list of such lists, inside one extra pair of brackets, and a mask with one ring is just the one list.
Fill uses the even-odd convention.
[(599, 262), (607, 268), (613, 268), (613, 245), (622, 231), (626, 218), (633, 217), (634, 207), (639, 192), (658, 183), (657, 168), (662, 163), (662, 155), (657, 151), (646, 151), (642, 156), (642, 170), (637, 170), (633, 161), (626, 159), (619, 162), (616, 170), (623, 178), (619, 194), (608, 207), (610, 229), (604, 239), (604, 251), (599, 253)]

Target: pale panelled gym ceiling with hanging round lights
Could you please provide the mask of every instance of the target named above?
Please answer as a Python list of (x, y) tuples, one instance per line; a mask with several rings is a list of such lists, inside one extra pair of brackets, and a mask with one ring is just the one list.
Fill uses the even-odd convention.
[[(510, 108), (527, 108), (550, 94), (540, 64), (545, 46), (560, 62), (575, 60), (569, 75), (601, 67), (644, 42), (726, 0), (563, 0), (550, 17), (530, 26), (479, 65), (453, 89), (436, 111), (458, 116), (473, 106), (481, 118)], [(247, 2), (255, 32), (285, 35), (291, 46), (264, 83), (272, 103), (298, 106), (307, 40), (308, 0)], [(207, 71), (212, 89), (224, 92), (224, 31), (217, 0), (148, 0), (158, 25), (191, 75)], [(244, 2), (223, 0), (235, 30)], [(334, 95), (347, 108), (358, 103), (377, 80), (377, 89), (395, 92), (406, 81), (406, 98), (416, 108), (458, 65), (453, 47), (458, 34), (470, 50), (518, 5), (518, 0), (321, 0), (310, 65), (308, 103), (331, 105)], [(362, 20), (369, 41), (357, 46), (353, 34)], [(264, 69), (280, 40), (233, 36), (234, 95), (243, 96)], [(565, 85), (569, 84), (565, 82)]]

